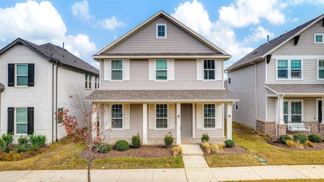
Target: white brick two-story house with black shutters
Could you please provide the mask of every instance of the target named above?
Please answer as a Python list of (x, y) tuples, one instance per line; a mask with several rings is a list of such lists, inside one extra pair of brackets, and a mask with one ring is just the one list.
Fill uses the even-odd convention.
[(52, 143), (66, 136), (55, 112), (75, 111), (75, 94), (89, 95), (99, 85), (99, 70), (66, 49), (18, 38), (0, 50), (0, 134), (35, 133)]

